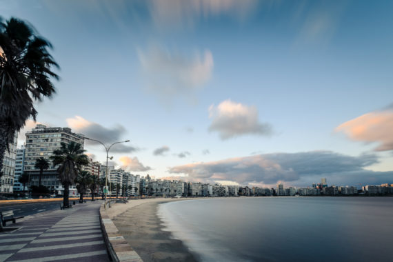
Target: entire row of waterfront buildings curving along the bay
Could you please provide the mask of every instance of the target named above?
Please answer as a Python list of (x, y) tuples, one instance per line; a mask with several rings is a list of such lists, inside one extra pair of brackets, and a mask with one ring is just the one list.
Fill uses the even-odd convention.
[[(60, 148), (60, 143), (70, 143), (75, 141), (83, 146), (83, 135), (74, 134), (70, 128), (46, 128), (45, 125), (37, 125), (31, 132), (26, 134), (26, 148), (16, 150), (16, 139), (11, 148), (11, 153), (6, 159), (6, 176), (1, 180), (1, 192), (12, 193), (10, 186), (14, 185), (14, 191), (23, 190), (17, 180), (22, 172), (27, 172), (31, 176), (32, 185), (38, 185), (39, 170), (34, 168), (35, 159), (44, 157), (50, 162), (50, 168), (44, 170), (42, 184), (54, 191), (56, 194), (63, 194), (62, 185), (59, 183), (57, 167), (52, 165), (50, 155), (53, 150)], [(12, 162), (12, 157), (14, 161)], [(13, 169), (12, 169), (13, 167)], [(8, 169), (7, 169), (8, 168)], [(95, 174), (98, 177), (106, 177), (107, 167), (97, 161), (92, 161), (84, 167), (84, 170)], [(379, 196), (393, 194), (393, 184), (365, 185), (362, 190), (354, 186), (335, 186), (326, 183), (326, 179), (321, 179), (321, 183), (314, 183), (308, 188), (285, 188), (283, 183), (279, 183), (276, 188), (259, 188), (239, 185), (221, 185), (215, 183), (194, 183), (177, 180), (152, 179), (149, 175), (141, 177), (139, 174), (131, 174), (122, 169), (115, 169), (108, 166), (108, 183), (112, 185), (112, 196), (353, 196), (356, 194)], [(16, 174), (14, 176), (14, 174)], [(7, 180), (10, 179), (10, 180)], [(8, 185), (8, 188), (5, 186)], [(101, 188), (100, 188), (101, 190)], [(70, 188), (71, 196), (76, 194), (74, 186)], [(102, 193), (102, 192), (100, 192)]]

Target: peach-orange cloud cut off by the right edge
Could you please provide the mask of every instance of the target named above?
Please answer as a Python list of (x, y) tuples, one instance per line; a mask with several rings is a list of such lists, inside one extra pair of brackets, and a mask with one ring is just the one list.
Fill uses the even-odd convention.
[(342, 123), (335, 131), (354, 141), (378, 143), (375, 151), (393, 150), (393, 108), (363, 114)]

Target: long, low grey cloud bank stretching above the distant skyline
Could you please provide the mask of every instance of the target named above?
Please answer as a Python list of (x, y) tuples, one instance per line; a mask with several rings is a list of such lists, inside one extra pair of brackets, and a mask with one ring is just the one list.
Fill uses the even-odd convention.
[(366, 170), (378, 163), (374, 154), (351, 157), (331, 151), (259, 154), (220, 161), (189, 163), (170, 168), (175, 175), (204, 181), (235, 181), (242, 185), (275, 185), (283, 181), (288, 185), (307, 186), (328, 178), (330, 185), (359, 185), (392, 181), (393, 172)]

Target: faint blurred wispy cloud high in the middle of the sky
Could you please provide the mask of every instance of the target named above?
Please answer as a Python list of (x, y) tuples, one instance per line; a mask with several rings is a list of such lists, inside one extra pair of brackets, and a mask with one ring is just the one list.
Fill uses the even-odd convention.
[(148, 90), (162, 102), (170, 103), (179, 97), (192, 99), (212, 77), (213, 55), (205, 50), (201, 55), (185, 55), (162, 47), (138, 50)]

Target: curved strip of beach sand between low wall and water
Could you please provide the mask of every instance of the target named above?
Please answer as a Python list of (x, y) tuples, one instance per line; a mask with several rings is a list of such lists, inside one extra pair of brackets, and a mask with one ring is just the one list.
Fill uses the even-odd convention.
[(177, 199), (136, 199), (117, 203), (110, 208), (110, 217), (124, 239), (141, 256), (143, 261), (199, 261), (182, 241), (172, 239), (163, 231), (157, 216), (160, 203)]

